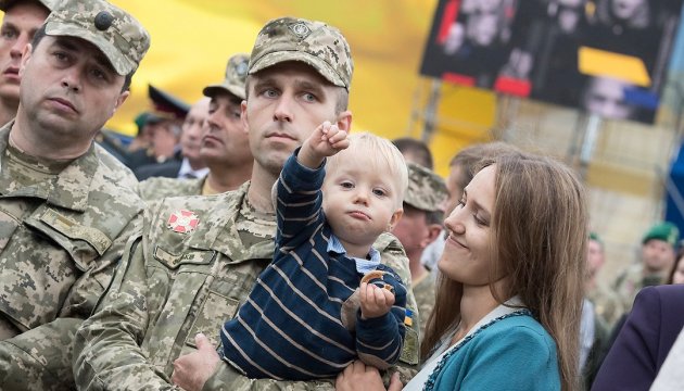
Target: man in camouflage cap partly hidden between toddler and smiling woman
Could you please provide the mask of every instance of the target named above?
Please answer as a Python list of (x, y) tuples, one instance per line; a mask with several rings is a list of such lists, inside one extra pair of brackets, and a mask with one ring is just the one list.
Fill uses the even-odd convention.
[(434, 278), (420, 258), (428, 244), (442, 232), (444, 213), (441, 204), (447, 197), (444, 179), (416, 163), (408, 167), (408, 189), (404, 197), (404, 215), (392, 230), (402, 242), (410, 266), (414, 294), (418, 303), (420, 335), (434, 306)]

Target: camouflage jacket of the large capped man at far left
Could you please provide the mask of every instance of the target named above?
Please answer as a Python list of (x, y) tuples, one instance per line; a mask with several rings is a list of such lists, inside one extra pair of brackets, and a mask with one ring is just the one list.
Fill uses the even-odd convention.
[(55, 179), (22, 186), (18, 169), (0, 172), (0, 388), (72, 389), (73, 336), (142, 224), (138, 181), (94, 144)]

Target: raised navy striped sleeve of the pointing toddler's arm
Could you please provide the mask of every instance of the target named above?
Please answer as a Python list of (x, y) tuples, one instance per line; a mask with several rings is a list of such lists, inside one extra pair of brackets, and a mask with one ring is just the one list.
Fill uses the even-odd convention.
[[(295, 151), (295, 153), (299, 152)], [(322, 167), (311, 169), (291, 155), (284, 164), (276, 182), (278, 201), (278, 235), (276, 245), (289, 250), (309, 239), (319, 229), (324, 220), (322, 186), (325, 171)]]

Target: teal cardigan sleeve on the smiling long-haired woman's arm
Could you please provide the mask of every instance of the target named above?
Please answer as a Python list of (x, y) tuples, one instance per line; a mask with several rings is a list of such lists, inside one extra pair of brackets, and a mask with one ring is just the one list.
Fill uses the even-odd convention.
[[(525, 326), (483, 337), (469, 354), (471, 362), (444, 367), (445, 378), (439, 381), (438, 390), (560, 391), (553, 341)], [(465, 376), (463, 370), (467, 371)], [(449, 376), (459, 375), (460, 384), (448, 380)]]

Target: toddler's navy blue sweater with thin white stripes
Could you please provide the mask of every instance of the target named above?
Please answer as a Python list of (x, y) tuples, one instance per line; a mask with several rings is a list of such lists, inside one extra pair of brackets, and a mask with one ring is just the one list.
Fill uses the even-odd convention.
[(251, 378), (331, 377), (359, 356), (389, 366), (401, 355), (406, 288), (394, 270), (377, 266), (394, 288), (388, 314), (362, 319), (357, 305), (351, 316), (344, 312), (362, 275), (353, 260), (327, 251), (332, 232), (321, 209), (324, 177), (322, 167), (306, 168), (294, 155), (287, 161), (278, 180), (274, 261), (224, 325), (225, 358)]

